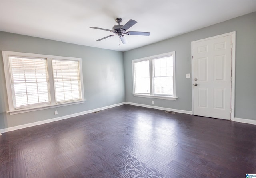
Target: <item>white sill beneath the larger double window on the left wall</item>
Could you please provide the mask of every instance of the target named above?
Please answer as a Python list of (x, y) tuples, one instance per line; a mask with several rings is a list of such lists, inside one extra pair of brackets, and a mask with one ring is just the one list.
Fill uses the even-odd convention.
[(54, 104), (54, 105), (38, 106), (38, 107), (35, 107), (35, 108), (22, 108), (22, 109), (18, 109), (18, 110), (14, 110), (14, 111), (7, 111), (7, 113), (10, 113), (10, 115), (20, 114), (20, 113), (31, 112), (31, 111), (45, 110), (45, 109), (49, 109), (49, 108), (56, 108), (56, 107), (60, 107), (60, 106), (80, 104), (80, 103), (84, 103), (84, 101), (86, 101), (86, 100), (80, 100), (80, 101), (70, 102), (70, 103), (61, 103), (61, 104)]

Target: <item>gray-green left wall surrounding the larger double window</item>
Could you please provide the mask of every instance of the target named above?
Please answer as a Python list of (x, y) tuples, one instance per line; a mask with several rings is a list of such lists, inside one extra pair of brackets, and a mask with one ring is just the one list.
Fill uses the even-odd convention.
[[(58, 108), (10, 115), (2, 51), (82, 58), (84, 95), (87, 101)], [(123, 53), (0, 31), (0, 129), (43, 121), (125, 102)], [(58, 110), (58, 115), (54, 115)]]

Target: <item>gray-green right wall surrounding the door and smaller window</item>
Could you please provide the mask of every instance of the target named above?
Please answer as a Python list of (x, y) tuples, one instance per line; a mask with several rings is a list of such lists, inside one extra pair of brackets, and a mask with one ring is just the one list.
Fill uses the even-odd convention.
[[(176, 51), (176, 101), (154, 99), (154, 106), (192, 111), (191, 42), (236, 31), (235, 117), (256, 120), (256, 12), (124, 52), (126, 101), (152, 105), (132, 96), (132, 60)], [(153, 34), (152, 34), (153, 35)]]

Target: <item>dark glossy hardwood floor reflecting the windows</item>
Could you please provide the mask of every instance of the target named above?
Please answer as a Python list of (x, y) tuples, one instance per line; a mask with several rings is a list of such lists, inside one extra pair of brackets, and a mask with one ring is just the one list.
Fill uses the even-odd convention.
[(0, 136), (1, 178), (245, 178), (256, 125), (122, 105)]

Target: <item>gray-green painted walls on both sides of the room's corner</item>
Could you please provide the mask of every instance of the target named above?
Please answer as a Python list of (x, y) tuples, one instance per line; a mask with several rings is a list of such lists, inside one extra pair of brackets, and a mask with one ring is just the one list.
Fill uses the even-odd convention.
[[(191, 42), (236, 31), (235, 117), (256, 120), (256, 12), (124, 53), (0, 31), (0, 52), (18, 51), (82, 58), (86, 102), (10, 115), (0, 54), (0, 129), (43, 121), (121, 102), (152, 105), (133, 97), (132, 60), (176, 51), (176, 101), (154, 99), (154, 106), (192, 111)], [(58, 115), (54, 115), (58, 110)]]

